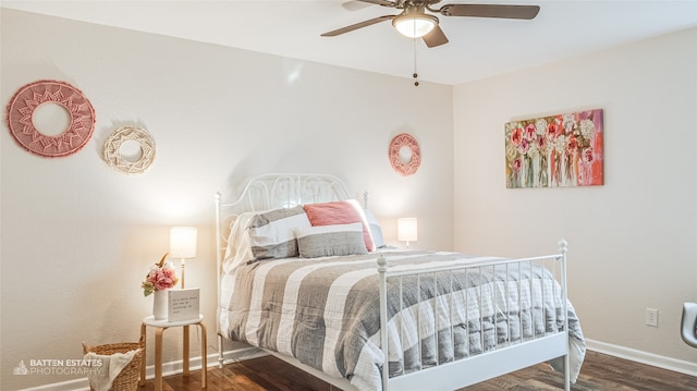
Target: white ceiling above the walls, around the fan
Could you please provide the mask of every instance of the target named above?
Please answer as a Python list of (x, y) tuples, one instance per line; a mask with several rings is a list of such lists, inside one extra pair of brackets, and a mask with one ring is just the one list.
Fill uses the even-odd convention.
[(538, 4), (541, 10), (533, 21), (440, 16), (450, 42), (429, 49), (401, 36), (390, 22), (320, 37), (399, 13), (348, 0), (1, 1), (9, 9), (400, 77), (411, 77), (416, 63), (420, 81), (449, 85), (697, 26), (697, 0), (444, 0), (437, 5), (445, 3)]

